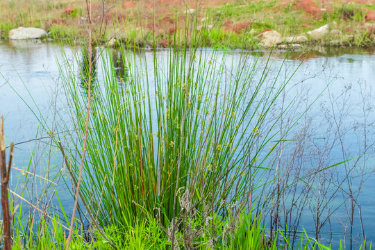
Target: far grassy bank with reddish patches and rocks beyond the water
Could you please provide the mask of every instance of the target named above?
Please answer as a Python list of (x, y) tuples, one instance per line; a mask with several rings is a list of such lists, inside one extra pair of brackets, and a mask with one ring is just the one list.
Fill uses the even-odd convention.
[[(374, 47), (375, 3), (371, 1), (177, 0), (92, 3), (94, 43), (172, 47), (185, 26), (196, 22), (201, 47)], [(197, 7), (197, 8), (196, 8)], [(83, 1), (19, 0), (0, 3), (0, 37), (24, 27), (42, 28), (42, 39), (64, 43), (87, 38)], [(228, 40), (231, 40), (229, 43)]]

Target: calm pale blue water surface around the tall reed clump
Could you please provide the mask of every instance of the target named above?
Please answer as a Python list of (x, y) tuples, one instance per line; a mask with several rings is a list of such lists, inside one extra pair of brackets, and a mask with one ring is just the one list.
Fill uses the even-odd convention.
[[(70, 49), (65, 47), (67, 56), (71, 56)], [(116, 54), (116, 53), (113, 53)], [(240, 57), (239, 51), (230, 53), (234, 60)], [(158, 51), (158, 56), (163, 58), (167, 55), (165, 50)], [(251, 54), (254, 58), (256, 53)], [(283, 63), (285, 51), (276, 51), (271, 56), (272, 65), (278, 69)], [(296, 68), (301, 63), (301, 58), (304, 58), (306, 53), (297, 51), (289, 56), (285, 61), (281, 75), (288, 74), (289, 70)], [(145, 51), (145, 57), (152, 60), (153, 52)], [(263, 63), (267, 59), (267, 53), (262, 55)], [(33, 172), (38, 176), (27, 174), (22, 170), (12, 169), (12, 179), (10, 183), (10, 190), (21, 195), (27, 201), (31, 201), (34, 206), (44, 208), (44, 204), (49, 203), (49, 206), (60, 207), (60, 202), (63, 203), (66, 213), (69, 215), (73, 208), (74, 199), (69, 190), (72, 190), (69, 182), (69, 175), (62, 164), (61, 153), (56, 147), (50, 147), (51, 141), (48, 139), (48, 133), (55, 133), (59, 121), (63, 117), (69, 117), (68, 111), (65, 107), (65, 94), (59, 79), (58, 67), (56, 60), (63, 62), (63, 53), (61, 46), (53, 43), (42, 42), (0, 42), (0, 114), (6, 118), (5, 133), (7, 144), (12, 142), (26, 142), (35, 138), (47, 137), (42, 140), (33, 140), (31, 142), (17, 144), (15, 149), (14, 165), (18, 169)], [(100, 67), (98, 67), (100, 69)], [(286, 88), (284, 94), (285, 101), (290, 101), (296, 94), (303, 97), (302, 101), (292, 106), (290, 115), (299, 116), (301, 111), (306, 110), (308, 103), (315, 100), (324, 88), (329, 83), (329, 88), (315, 101), (314, 106), (308, 111), (306, 117), (310, 117), (309, 126), (311, 128), (310, 140), (310, 157), (313, 160), (306, 163), (307, 167), (313, 169), (313, 165), (317, 164), (318, 149), (324, 147), (324, 142), (331, 142), (332, 131), (328, 133), (326, 128), (329, 127), (327, 119), (324, 114), (325, 109), (335, 110), (336, 114), (340, 110), (345, 114), (342, 120), (337, 121), (342, 128), (347, 128), (342, 138), (344, 139), (344, 153), (347, 158), (358, 156), (361, 147), (365, 144), (363, 137), (363, 122), (366, 116), (367, 123), (367, 144), (375, 142), (375, 115), (372, 107), (375, 105), (375, 52), (369, 51), (351, 51), (351, 50), (335, 50), (335, 51), (318, 51), (310, 52), (306, 59), (301, 63), (297, 73), (293, 76), (292, 81)], [(152, 69), (151, 69), (152, 72)], [(100, 72), (99, 78), (100, 78)], [(308, 90), (308, 92), (306, 92)], [(345, 92), (345, 90), (348, 90)], [(365, 108), (363, 108), (363, 96), (368, 95), (365, 101)], [(345, 105), (342, 105), (345, 103)], [(56, 113), (55, 110), (59, 110)], [(365, 113), (364, 113), (365, 110)], [(330, 112), (331, 112), (330, 111)], [(44, 117), (42, 119), (42, 117)], [(332, 121), (332, 120), (331, 120)], [(293, 133), (297, 134), (306, 122), (301, 119), (293, 129)], [(55, 124), (55, 125), (51, 125)], [(362, 129), (362, 130), (361, 130)], [(324, 138), (324, 139), (322, 139)], [(290, 138), (288, 138), (290, 139)], [(295, 142), (288, 142), (288, 147), (285, 147), (285, 158), (288, 159), (288, 153), (292, 153)], [(33, 155), (33, 158), (31, 158)], [(375, 176), (369, 173), (375, 169), (374, 147), (369, 147), (366, 155), (366, 161), (361, 158), (358, 166), (363, 166), (367, 173), (367, 179), (363, 183), (358, 203), (361, 207), (362, 222), (367, 235), (367, 241), (375, 240)], [(302, 156), (301, 156), (302, 157)], [(342, 160), (342, 148), (339, 143), (336, 143), (331, 152), (327, 155), (327, 160), (323, 167), (328, 167), (331, 163), (338, 163)], [(354, 164), (354, 161), (347, 163), (347, 167)], [(333, 168), (331, 178), (342, 178), (344, 176), (345, 165), (338, 165)], [(360, 169), (360, 167), (358, 167)], [(48, 173), (48, 174), (46, 174)], [(351, 174), (351, 184), (354, 188), (358, 188), (359, 180), (358, 174)], [(40, 178), (42, 176), (43, 178)], [(264, 176), (267, 178), (267, 176)], [(50, 181), (45, 180), (48, 179)], [(53, 181), (53, 183), (51, 183)], [(65, 181), (67, 184), (65, 184)], [(26, 182), (26, 184), (25, 184)], [(313, 183), (315, 191), (319, 190), (319, 183)], [(321, 185), (323, 188), (326, 187)], [(55, 188), (51, 188), (55, 187)], [(327, 186), (328, 187), (328, 186)], [(344, 187), (344, 185), (343, 185)], [(328, 188), (332, 188), (331, 186)], [(56, 192), (53, 192), (56, 190)], [(331, 191), (330, 191), (331, 192)], [(57, 199), (58, 194), (59, 199)], [(329, 192), (328, 192), (329, 194)], [(39, 197), (38, 199), (36, 197)], [(313, 199), (317, 194), (311, 193), (311, 203), (314, 204)], [(322, 228), (322, 235), (320, 240), (325, 244), (329, 244), (333, 231), (333, 249), (338, 247), (340, 240), (345, 240), (348, 246), (348, 236), (344, 234), (344, 224), (347, 224), (347, 208), (342, 205), (338, 210), (335, 210), (343, 201), (346, 201), (342, 192), (335, 196), (335, 199), (330, 201), (326, 212), (322, 217), (326, 216), (328, 208), (334, 213), (331, 215), (331, 226), (326, 224)], [(290, 197), (285, 197), (285, 203), (290, 201)], [(21, 202), (21, 199), (15, 198), (15, 204)], [(315, 232), (313, 226), (312, 211), (315, 209), (313, 205), (311, 208), (306, 208), (301, 217), (303, 228), (309, 232), (309, 235), (314, 237)], [(28, 208), (28, 206), (26, 206)], [(24, 208), (24, 209), (26, 209)], [(266, 215), (267, 216), (267, 215)], [(265, 219), (267, 222), (267, 219)], [(358, 209), (354, 214), (354, 235), (360, 242), (362, 228), (360, 225)], [(302, 228), (299, 228), (302, 230)], [(356, 242), (356, 244), (358, 243)]]

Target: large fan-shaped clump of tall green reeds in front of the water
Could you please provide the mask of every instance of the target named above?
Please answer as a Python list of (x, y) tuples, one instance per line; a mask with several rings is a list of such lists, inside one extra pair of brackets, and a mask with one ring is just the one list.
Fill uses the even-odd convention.
[[(279, 78), (281, 69), (271, 72), (267, 60), (244, 51), (235, 57), (197, 49), (199, 35), (189, 30), (175, 35), (173, 49), (121, 47), (124, 78), (105, 49), (92, 61), (102, 78), (94, 73), (81, 194), (103, 228), (116, 225), (125, 233), (136, 221), (156, 217), (174, 235), (184, 212), (225, 220), (229, 207), (251, 204), (285, 110), (269, 112), (293, 72)], [(81, 87), (88, 72), (82, 65), (77, 58), (60, 65), (76, 132), (65, 133), (74, 178), (85, 140), (87, 92)], [(212, 238), (215, 231), (212, 226)]]

